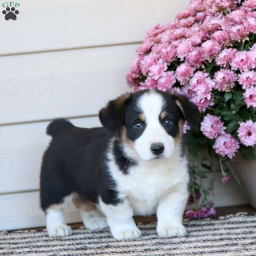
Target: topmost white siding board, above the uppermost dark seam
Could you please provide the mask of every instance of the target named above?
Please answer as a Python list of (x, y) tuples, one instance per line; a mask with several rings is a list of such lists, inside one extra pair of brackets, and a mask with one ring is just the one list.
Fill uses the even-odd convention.
[(189, 0), (17, 2), (17, 20), (1, 14), (0, 55), (142, 41), (148, 29), (173, 20)]

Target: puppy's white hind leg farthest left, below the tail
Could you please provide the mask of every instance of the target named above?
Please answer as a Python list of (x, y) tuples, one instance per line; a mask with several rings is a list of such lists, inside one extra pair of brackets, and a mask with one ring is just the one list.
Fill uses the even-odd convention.
[(63, 198), (63, 202), (50, 205), (46, 213), (46, 227), (49, 236), (69, 236), (71, 228), (65, 223), (63, 211), (69, 206), (71, 196)]

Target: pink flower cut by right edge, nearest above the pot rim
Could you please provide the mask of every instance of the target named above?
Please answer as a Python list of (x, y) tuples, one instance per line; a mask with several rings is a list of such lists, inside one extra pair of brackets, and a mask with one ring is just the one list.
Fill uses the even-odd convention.
[(242, 122), (238, 129), (238, 137), (247, 147), (256, 145), (256, 122), (251, 120)]

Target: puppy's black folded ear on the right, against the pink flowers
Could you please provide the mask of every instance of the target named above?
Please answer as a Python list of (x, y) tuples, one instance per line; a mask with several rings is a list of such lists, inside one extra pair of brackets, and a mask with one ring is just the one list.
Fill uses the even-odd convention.
[(190, 128), (193, 130), (197, 127), (200, 121), (200, 113), (197, 105), (190, 102), (186, 96), (174, 95), (175, 102), (179, 106), (184, 118), (187, 120)]

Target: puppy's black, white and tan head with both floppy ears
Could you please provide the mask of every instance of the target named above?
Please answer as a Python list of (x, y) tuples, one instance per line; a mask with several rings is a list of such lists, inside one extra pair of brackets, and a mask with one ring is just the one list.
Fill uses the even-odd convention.
[(99, 112), (102, 125), (119, 136), (125, 153), (137, 160), (169, 158), (180, 143), (186, 119), (198, 125), (198, 108), (185, 96), (144, 90), (124, 94)]

